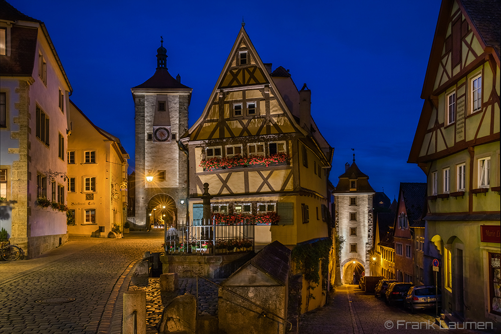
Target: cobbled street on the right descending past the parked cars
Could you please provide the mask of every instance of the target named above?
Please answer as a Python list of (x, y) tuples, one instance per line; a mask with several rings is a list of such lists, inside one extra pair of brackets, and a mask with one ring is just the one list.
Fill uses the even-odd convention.
[(301, 316), (299, 333), (485, 333), (440, 329), (432, 326), (434, 321), (433, 312), (411, 314), (400, 307), (387, 306), (373, 294), (365, 294), (358, 285), (343, 285), (330, 296), (329, 304)]

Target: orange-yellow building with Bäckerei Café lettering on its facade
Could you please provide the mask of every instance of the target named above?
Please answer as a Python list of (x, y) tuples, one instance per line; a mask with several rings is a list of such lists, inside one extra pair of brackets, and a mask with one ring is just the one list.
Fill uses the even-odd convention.
[(68, 233), (108, 237), (127, 220), (127, 159), (120, 140), (95, 126), (70, 101)]

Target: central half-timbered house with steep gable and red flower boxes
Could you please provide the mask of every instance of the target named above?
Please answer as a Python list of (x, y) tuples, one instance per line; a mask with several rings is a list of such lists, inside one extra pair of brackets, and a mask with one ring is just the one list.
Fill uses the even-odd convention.
[(329, 237), (334, 149), (311, 117), (306, 84), (298, 91), (289, 71), (271, 70), (242, 26), (202, 115), (181, 139), (190, 216), (202, 217), (208, 183), (212, 214), (256, 222), (257, 249)]

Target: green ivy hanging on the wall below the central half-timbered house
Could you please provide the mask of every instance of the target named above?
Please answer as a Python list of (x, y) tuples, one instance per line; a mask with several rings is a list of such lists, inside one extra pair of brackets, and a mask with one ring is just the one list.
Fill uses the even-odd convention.
[(303, 277), (308, 284), (308, 294), (306, 295), (306, 311), (310, 305), (310, 300), (315, 296), (312, 291), (320, 284), (320, 262), (322, 266), (322, 293), (327, 290), (327, 276), (329, 274), (329, 253), (332, 247), (332, 239), (324, 239), (314, 243), (300, 244), (292, 250), (292, 260), (296, 268), (303, 272)]

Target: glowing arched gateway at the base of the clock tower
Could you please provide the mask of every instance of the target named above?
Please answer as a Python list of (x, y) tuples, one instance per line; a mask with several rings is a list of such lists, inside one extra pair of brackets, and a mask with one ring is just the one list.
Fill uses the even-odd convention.
[(157, 194), (148, 202), (146, 211), (148, 229), (177, 227), (176, 202), (167, 194)]

